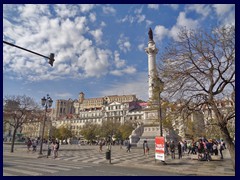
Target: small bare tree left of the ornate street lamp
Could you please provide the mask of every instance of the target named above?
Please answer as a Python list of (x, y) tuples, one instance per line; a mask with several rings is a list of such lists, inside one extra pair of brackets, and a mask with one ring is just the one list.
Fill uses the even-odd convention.
[(25, 95), (4, 97), (3, 123), (13, 128), (11, 152), (14, 152), (14, 143), (17, 131), (27, 122), (39, 120), (41, 112), (37, 103)]

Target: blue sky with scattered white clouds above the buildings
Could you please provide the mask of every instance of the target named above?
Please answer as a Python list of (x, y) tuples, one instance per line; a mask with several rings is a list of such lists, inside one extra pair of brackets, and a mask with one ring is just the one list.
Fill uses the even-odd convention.
[(3, 5), (3, 96), (36, 101), (136, 94), (148, 100), (148, 29), (160, 54), (181, 26), (209, 29), (235, 24), (230, 4), (25, 4)]

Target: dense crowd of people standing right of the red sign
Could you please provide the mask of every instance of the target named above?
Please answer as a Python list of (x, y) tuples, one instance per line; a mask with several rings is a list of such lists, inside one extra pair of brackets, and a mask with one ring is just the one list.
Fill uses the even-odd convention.
[(211, 160), (211, 155), (218, 155), (218, 151), (220, 152), (221, 159), (223, 159), (222, 151), (226, 149), (225, 142), (223, 139), (220, 141), (216, 140), (207, 140), (207, 139), (199, 139), (197, 141), (179, 141), (175, 144), (174, 141), (166, 142), (166, 154), (170, 155), (171, 158), (175, 159), (175, 151), (177, 149), (178, 158), (181, 159), (183, 154), (197, 154), (198, 160)]

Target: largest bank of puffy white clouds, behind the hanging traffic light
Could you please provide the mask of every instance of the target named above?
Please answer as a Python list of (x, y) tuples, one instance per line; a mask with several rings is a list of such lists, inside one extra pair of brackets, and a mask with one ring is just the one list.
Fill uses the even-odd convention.
[[(120, 55), (108, 49), (93, 47), (91, 34), (97, 44), (102, 42), (103, 32), (99, 29), (91, 29), (90, 21), (95, 21), (95, 13), (87, 16), (74, 16), (76, 10), (89, 12), (92, 5), (47, 5), (31, 6), (19, 5), (4, 6), (4, 17), (9, 18), (14, 9), (19, 23), (13, 24), (8, 18), (3, 19), (3, 38), (16, 45), (37, 53), (49, 56), (55, 54), (54, 66), (48, 65), (48, 60), (37, 57), (31, 53), (21, 51), (7, 45), (3, 46), (3, 70), (16, 74), (18, 77), (29, 81), (41, 81), (49, 79), (85, 78), (104, 76), (116, 68), (121, 73), (134, 73), (135, 68), (126, 65)], [(110, 8), (110, 7), (109, 7)], [(52, 11), (47, 11), (52, 9)], [(44, 11), (46, 10), (46, 11)], [(57, 17), (50, 14), (57, 13)], [(70, 13), (70, 14), (69, 14)], [(67, 14), (69, 14), (68, 18)], [(31, 21), (29, 21), (31, 18)], [(14, 17), (13, 17), (14, 19)], [(106, 26), (105, 22), (100, 25)], [(119, 46), (124, 52), (131, 48), (128, 38), (121, 36)], [(111, 62), (112, 61), (112, 62)], [(121, 68), (121, 69), (119, 69)], [(10, 77), (10, 76), (9, 76)]]

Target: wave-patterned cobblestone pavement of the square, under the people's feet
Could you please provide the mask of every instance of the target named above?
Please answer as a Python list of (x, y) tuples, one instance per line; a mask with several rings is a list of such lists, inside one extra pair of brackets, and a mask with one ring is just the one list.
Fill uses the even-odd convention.
[[(46, 158), (47, 146), (43, 146), (43, 156)], [(93, 164), (108, 164), (106, 160), (107, 147), (103, 147), (103, 151), (99, 152), (98, 146), (92, 145), (61, 145), (57, 160), (93, 163)], [(38, 152), (28, 152), (25, 145), (15, 146), (15, 152), (9, 153), (10, 148), (4, 145), (4, 155), (21, 155), (33, 158), (39, 158)], [(148, 169), (161, 169), (167, 172), (174, 172), (183, 175), (200, 175), (200, 176), (235, 176), (235, 170), (232, 167), (228, 150), (224, 150), (224, 160), (219, 160), (219, 157), (214, 157), (214, 161), (198, 161), (192, 159), (191, 155), (184, 155), (182, 159), (171, 159), (166, 156), (166, 164), (155, 161), (154, 150), (150, 150), (149, 155), (143, 155), (141, 148), (133, 147), (131, 152), (126, 152), (126, 148), (120, 149), (119, 146), (112, 146), (111, 149), (111, 164), (114, 166), (131, 166)], [(49, 157), (52, 158), (52, 157)]]

